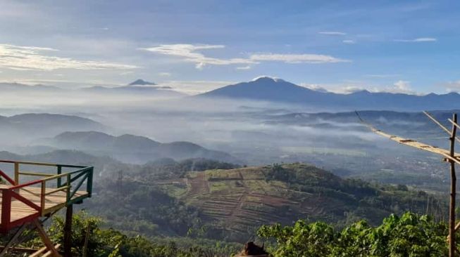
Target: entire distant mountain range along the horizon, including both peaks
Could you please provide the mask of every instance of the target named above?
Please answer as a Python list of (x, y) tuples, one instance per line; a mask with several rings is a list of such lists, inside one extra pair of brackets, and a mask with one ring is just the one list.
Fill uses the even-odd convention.
[[(175, 91), (170, 86), (158, 86), (154, 82), (137, 79), (126, 86), (91, 86), (75, 90), (58, 88), (55, 86), (0, 83), (0, 89), (11, 92), (73, 92), (92, 93), (99, 95), (133, 95), (158, 98), (182, 98), (185, 93)], [(65, 95), (65, 96), (66, 96)], [(298, 86), (282, 79), (259, 77), (249, 82), (242, 82), (224, 86), (213, 91), (194, 95), (189, 99), (230, 99), (230, 100), (257, 100), (268, 103), (289, 104), (297, 107), (310, 107), (312, 110), (350, 111), (350, 110), (394, 110), (394, 111), (421, 111), (421, 110), (452, 110), (460, 107), (459, 93), (427, 95), (412, 95), (406, 93), (374, 93), (370, 91), (356, 91), (354, 93), (332, 93), (316, 91), (304, 86)], [(175, 103), (173, 103), (174, 105)], [(244, 103), (248, 105), (247, 103)]]

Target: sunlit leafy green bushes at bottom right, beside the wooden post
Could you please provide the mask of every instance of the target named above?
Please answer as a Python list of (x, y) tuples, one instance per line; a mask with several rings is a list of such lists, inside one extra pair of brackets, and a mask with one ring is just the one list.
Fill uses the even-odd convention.
[(264, 225), (258, 235), (275, 239), (270, 251), (284, 256), (447, 256), (447, 224), (429, 216), (404, 213), (385, 218), (378, 227), (364, 220), (341, 231), (327, 223), (298, 220), (292, 226)]

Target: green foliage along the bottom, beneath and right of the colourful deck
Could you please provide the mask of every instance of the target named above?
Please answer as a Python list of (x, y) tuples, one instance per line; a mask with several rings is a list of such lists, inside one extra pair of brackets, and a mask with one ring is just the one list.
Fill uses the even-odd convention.
[[(84, 256), (84, 251), (87, 251), (89, 257), (223, 257), (230, 256), (240, 249), (240, 245), (237, 244), (211, 240), (147, 239), (139, 235), (130, 237), (112, 228), (104, 229), (103, 225), (104, 220), (88, 216), (84, 211), (74, 214), (71, 238), (73, 256)], [(55, 244), (63, 244), (63, 226), (63, 218), (54, 216), (48, 233)], [(29, 239), (20, 246), (35, 248), (42, 246), (34, 230), (25, 232), (25, 238)], [(6, 241), (7, 238), (0, 239)], [(87, 241), (86, 249), (85, 241)], [(8, 254), (8, 256), (23, 256), (20, 253)]]

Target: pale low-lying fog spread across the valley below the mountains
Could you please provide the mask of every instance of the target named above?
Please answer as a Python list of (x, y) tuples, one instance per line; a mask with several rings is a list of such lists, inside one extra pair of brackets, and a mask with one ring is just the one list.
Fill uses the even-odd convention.
[[(97, 130), (113, 136), (125, 133), (146, 136), (161, 143), (188, 141), (209, 150), (227, 152), (242, 164), (311, 162), (344, 176), (367, 176), (382, 170), (416, 173), (421, 170), (417, 163), (428, 162), (421, 164), (425, 167), (422, 169), (428, 169), (428, 176), (444, 179), (439, 158), (375, 135), (360, 124), (354, 114), (318, 113), (340, 110), (315, 110), (253, 100), (83, 91), (2, 93), (0, 102), (3, 116), (31, 112), (68, 114), (101, 124), (94, 129), (94, 124), (85, 127), (78, 122), (60, 121), (56, 126), (47, 127), (43, 121), (42, 127), (36, 128), (23, 120), (8, 121), (6, 126), (6, 121), (0, 118), (1, 147), (18, 154), (56, 149), (55, 145), (46, 145), (46, 140), (65, 131)], [(439, 146), (447, 142), (435, 138), (447, 135), (437, 131), (428, 119), (407, 120), (400, 115), (378, 112), (365, 114), (364, 118), (390, 133), (408, 136), (413, 131), (417, 137), (424, 136)], [(402, 157), (411, 159), (402, 160)], [(427, 161), (427, 157), (432, 159)]]

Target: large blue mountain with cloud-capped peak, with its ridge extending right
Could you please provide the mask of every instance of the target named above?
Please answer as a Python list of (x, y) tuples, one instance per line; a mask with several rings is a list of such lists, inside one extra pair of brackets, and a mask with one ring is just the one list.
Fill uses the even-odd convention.
[(340, 110), (449, 110), (458, 108), (460, 102), (458, 93), (411, 95), (357, 91), (340, 94), (314, 91), (271, 77), (259, 77), (249, 82), (224, 86), (196, 97), (262, 100)]

